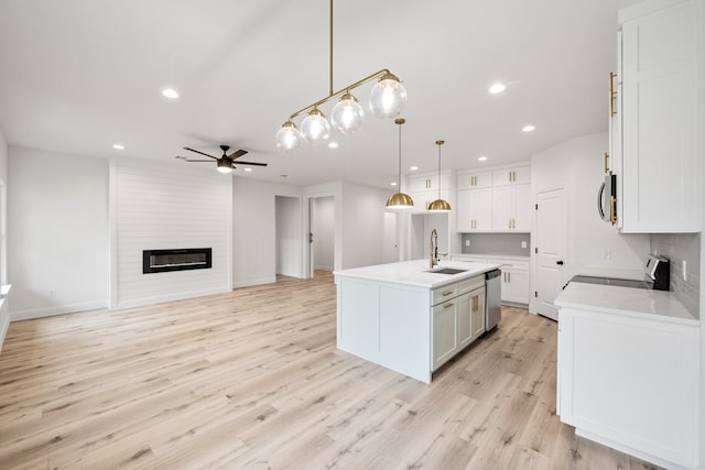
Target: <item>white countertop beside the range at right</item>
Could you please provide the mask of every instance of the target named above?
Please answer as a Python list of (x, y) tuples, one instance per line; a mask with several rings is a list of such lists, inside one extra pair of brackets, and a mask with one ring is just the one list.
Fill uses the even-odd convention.
[(555, 298), (554, 304), (560, 307), (699, 325), (699, 320), (685, 309), (675, 295), (665, 291), (572, 282)]

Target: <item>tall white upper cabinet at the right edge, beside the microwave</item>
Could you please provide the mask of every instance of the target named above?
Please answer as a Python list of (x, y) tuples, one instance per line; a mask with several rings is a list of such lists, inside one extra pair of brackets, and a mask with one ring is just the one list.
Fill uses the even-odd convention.
[(695, 124), (704, 91), (695, 84), (695, 19), (693, 1), (619, 12), (622, 232), (701, 231)]

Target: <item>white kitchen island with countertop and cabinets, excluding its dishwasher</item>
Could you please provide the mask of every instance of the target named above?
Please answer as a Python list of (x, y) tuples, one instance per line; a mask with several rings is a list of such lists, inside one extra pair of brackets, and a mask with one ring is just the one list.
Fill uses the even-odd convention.
[(498, 264), (429, 260), (334, 272), (337, 347), (431, 383), (485, 332), (485, 273)]

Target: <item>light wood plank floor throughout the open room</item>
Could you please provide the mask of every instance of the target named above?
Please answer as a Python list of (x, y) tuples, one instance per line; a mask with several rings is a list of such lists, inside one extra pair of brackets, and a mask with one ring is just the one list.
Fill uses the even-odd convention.
[(329, 273), (13, 323), (2, 469), (641, 469), (555, 415), (556, 324), (505, 308), (431, 385), (335, 347)]

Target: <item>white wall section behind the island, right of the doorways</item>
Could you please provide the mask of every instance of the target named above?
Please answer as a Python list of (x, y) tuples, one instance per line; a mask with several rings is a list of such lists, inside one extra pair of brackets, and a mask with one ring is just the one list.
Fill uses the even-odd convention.
[(369, 266), (383, 262), (384, 210), (388, 193), (369, 186), (343, 183), (340, 269)]

